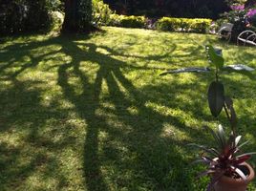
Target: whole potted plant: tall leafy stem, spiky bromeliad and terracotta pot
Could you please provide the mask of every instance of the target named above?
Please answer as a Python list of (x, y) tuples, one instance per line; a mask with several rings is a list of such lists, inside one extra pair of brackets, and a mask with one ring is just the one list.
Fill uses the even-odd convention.
[(219, 125), (216, 131), (205, 127), (215, 139), (214, 147), (192, 143), (203, 150), (203, 154), (196, 162), (203, 162), (207, 169), (199, 177), (210, 175), (211, 180), (207, 190), (214, 188), (215, 191), (245, 191), (247, 184), (254, 178), (254, 171), (246, 163), (247, 159), (255, 153), (241, 153), (241, 148), (248, 142), (240, 144), (241, 136), (237, 136), (236, 125), (237, 117), (233, 107), (233, 101), (229, 96), (224, 94), (224, 84), (221, 81), (223, 73), (245, 74), (254, 78), (252, 72), (254, 69), (245, 65), (227, 65), (224, 66), (224, 57), (222, 50), (215, 49), (211, 45), (205, 46), (209, 67), (192, 67), (178, 70), (167, 71), (165, 74), (180, 73), (213, 73), (215, 80), (212, 81), (208, 88), (207, 98), (210, 112), (213, 117), (219, 117), (224, 110), (225, 115), (230, 123), (230, 134), (224, 134), (224, 128)]

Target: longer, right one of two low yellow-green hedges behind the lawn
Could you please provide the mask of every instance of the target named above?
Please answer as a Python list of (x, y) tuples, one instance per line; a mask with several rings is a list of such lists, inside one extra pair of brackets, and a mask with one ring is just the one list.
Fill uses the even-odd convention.
[(211, 25), (211, 19), (190, 19), (190, 18), (171, 18), (162, 17), (157, 21), (156, 27), (165, 32), (207, 32)]

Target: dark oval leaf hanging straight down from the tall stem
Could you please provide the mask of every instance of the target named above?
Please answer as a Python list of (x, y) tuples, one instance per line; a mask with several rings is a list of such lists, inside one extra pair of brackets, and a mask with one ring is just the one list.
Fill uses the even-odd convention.
[(208, 104), (212, 116), (218, 117), (224, 108), (224, 85), (213, 81), (208, 89)]

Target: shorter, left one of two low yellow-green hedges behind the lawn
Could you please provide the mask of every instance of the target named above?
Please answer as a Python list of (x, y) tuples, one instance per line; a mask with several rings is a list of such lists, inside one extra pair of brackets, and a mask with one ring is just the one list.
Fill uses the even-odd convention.
[(125, 16), (112, 14), (110, 16), (110, 26), (124, 28), (145, 28), (147, 19), (144, 16)]

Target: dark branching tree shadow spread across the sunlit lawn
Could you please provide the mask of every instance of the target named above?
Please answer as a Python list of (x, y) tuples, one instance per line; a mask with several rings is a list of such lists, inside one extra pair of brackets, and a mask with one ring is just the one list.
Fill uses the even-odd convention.
[[(166, 83), (160, 83), (138, 88), (128, 78), (128, 75), (126, 76), (127, 69), (128, 71), (139, 73), (141, 71), (154, 70), (154, 67), (129, 64), (122, 61), (121, 58), (114, 58), (115, 55), (127, 57), (129, 54), (122, 54), (121, 51), (118, 52), (117, 50), (114, 51), (108, 46), (97, 46), (94, 43), (87, 42), (86, 39), (88, 39), (86, 36), (60, 36), (38, 43), (28, 43), (26, 46), (21, 44), (17, 45), (17, 47), (15, 45), (7, 47), (7, 51), (9, 49), (23, 50), (18, 56), (13, 55), (12, 58), (15, 60), (21, 60), (24, 55), (31, 55), (30, 51), (32, 49), (36, 50), (37, 47), (47, 48), (49, 45), (55, 44), (60, 49), (41, 56), (35, 56), (31, 64), (27, 63), (13, 72), (4, 73), (6, 69), (13, 67), (10, 62), (10, 65), (7, 65), (0, 73), (14, 80), (20, 74), (25, 74), (31, 67), (37, 67), (39, 61), (45, 59), (46, 56), (54, 53), (64, 53), (71, 58), (70, 61), (65, 61), (65, 63), (61, 61), (61, 64), (51, 65), (47, 68), (50, 70), (55, 68), (57, 70), (57, 84), (61, 88), (63, 95), (75, 105), (75, 112), (86, 122), (83, 172), (85, 187), (88, 190), (120, 190), (125, 188), (128, 190), (197, 190), (199, 185), (195, 185), (194, 178), (191, 177), (193, 174), (191, 171), (193, 170), (187, 168), (189, 157), (186, 157), (184, 153), (188, 152), (189, 149), (186, 149), (184, 145), (188, 139), (197, 140), (199, 138), (206, 139), (207, 137), (203, 135), (202, 131), (198, 130), (198, 128), (193, 128), (191, 124), (187, 124), (178, 115), (164, 114), (164, 112), (160, 112), (154, 107), (156, 105), (165, 106), (169, 109), (181, 110), (182, 113), (190, 113), (190, 117), (203, 119), (205, 114), (203, 114), (203, 111), (198, 110), (197, 105), (200, 104), (200, 101), (191, 103), (179, 98), (184, 93), (186, 96), (190, 95), (191, 100), (199, 99), (199, 95), (195, 94), (193, 90), (202, 91), (202, 89), (199, 89), (200, 85), (193, 86), (193, 90), (190, 92), (187, 89), (190, 88), (191, 83), (182, 84), (179, 80), (172, 80), (169, 86)], [(110, 54), (100, 53), (98, 49)], [(187, 49), (186, 51), (187, 54), (182, 54), (181, 57), (189, 57), (190, 52), (199, 53), (200, 49)], [(158, 60), (170, 56), (172, 56), (172, 53), (164, 54), (163, 56), (149, 56), (148, 58), (137, 56), (137, 58)], [(7, 64), (10, 58), (10, 56), (5, 58)], [(193, 58), (197, 59), (197, 56)], [(85, 71), (84, 67), (88, 71)], [(90, 67), (94, 70), (96, 69), (96, 72), (90, 70)], [(76, 83), (72, 82), (74, 77), (77, 79)], [(205, 78), (201, 76), (197, 78), (197, 80), (201, 79), (204, 80)], [(82, 92), (77, 92), (77, 85), (81, 87)], [(16, 92), (17, 87), (13, 88), (13, 91)], [(107, 91), (103, 92), (103, 89), (107, 89)], [(172, 94), (166, 94), (166, 96), (165, 93), (168, 91), (172, 92)], [(37, 89), (33, 97), (26, 90), (23, 90), (18, 96), (33, 97), (33, 104), (30, 107), (34, 108), (34, 112), (43, 109), (46, 114), (53, 109), (53, 114), (51, 115), (50, 112), (48, 115), (53, 116), (56, 120), (61, 120), (63, 117), (68, 116), (65, 110), (54, 110), (54, 106), (46, 108), (41, 105), (39, 97), (42, 92), (43, 90)], [(154, 96), (151, 96), (150, 93)], [(164, 99), (168, 98), (173, 101), (171, 103), (165, 102)], [(5, 98), (5, 100), (13, 102), (15, 98)], [(20, 106), (19, 111), (21, 112), (22, 110), (24, 110), (24, 105)], [(58, 118), (58, 116), (61, 117)], [(28, 142), (36, 148), (47, 147), (54, 153), (61, 147), (75, 145), (75, 141), (71, 141), (75, 138), (69, 136), (68, 132), (65, 134), (64, 139), (57, 142), (53, 142), (51, 138), (37, 135), (40, 131), (40, 124), (44, 124), (47, 117), (37, 118), (34, 116), (28, 119), (24, 116), (19, 116), (18, 119), (23, 120), (21, 124), (32, 123), (32, 131), (28, 136)], [(11, 124), (11, 122), (7, 123)], [(162, 135), (165, 126), (172, 127), (171, 130), (174, 131), (170, 132), (167, 137)], [(8, 128), (4, 131), (7, 130)], [(179, 135), (182, 133), (187, 134), (188, 138), (177, 138), (176, 131), (181, 132)], [(106, 136), (102, 136), (102, 134), (106, 134)], [(2, 150), (7, 153), (7, 146), (3, 145), (2, 147)], [(17, 150), (14, 149), (13, 155), (20, 155), (19, 150), (19, 148)], [(34, 159), (37, 160), (35, 156)], [(49, 160), (52, 164), (58, 163), (58, 160), (53, 157), (42, 157), (41, 160)], [(51, 170), (58, 171), (57, 166), (53, 168), (50, 165), (48, 169), (45, 172), (46, 177), (53, 176)], [(31, 168), (32, 171), (34, 171), (33, 168)], [(59, 175), (57, 177), (59, 188), (61, 186), (65, 187), (67, 184), (65, 176), (61, 172), (57, 172), (57, 174)], [(13, 179), (19, 175), (14, 174)], [(25, 177), (28, 177), (28, 175)]]

